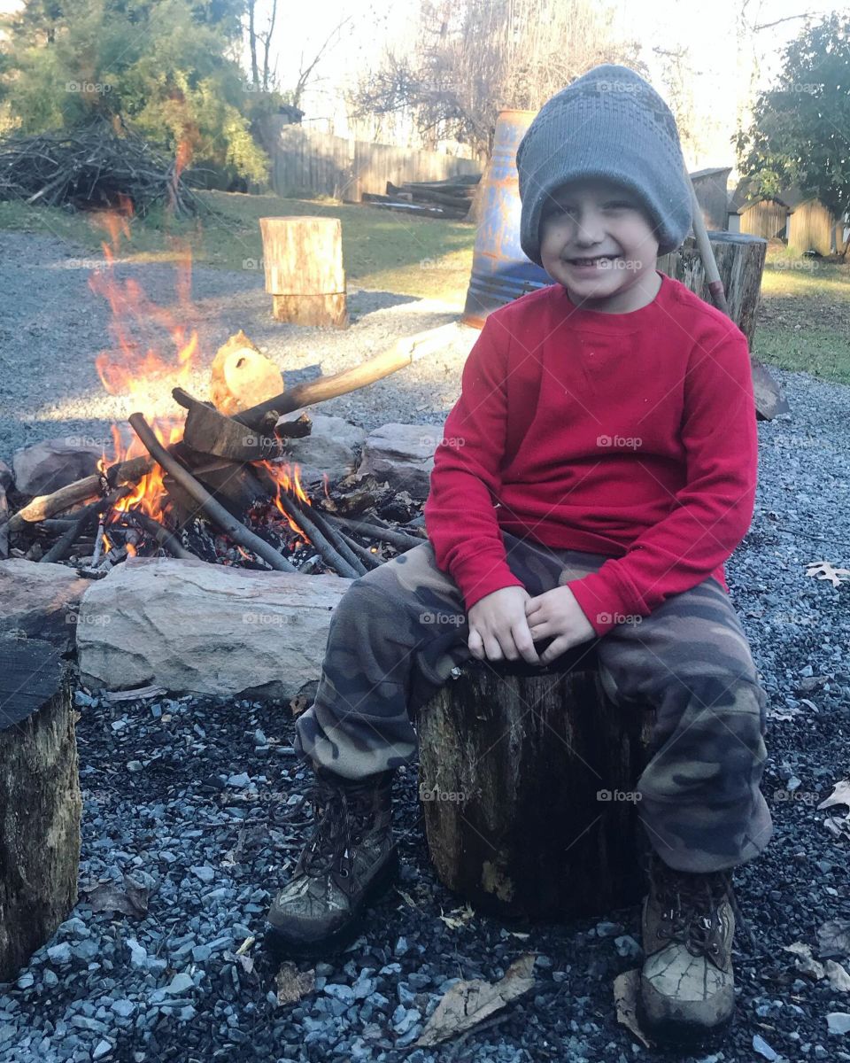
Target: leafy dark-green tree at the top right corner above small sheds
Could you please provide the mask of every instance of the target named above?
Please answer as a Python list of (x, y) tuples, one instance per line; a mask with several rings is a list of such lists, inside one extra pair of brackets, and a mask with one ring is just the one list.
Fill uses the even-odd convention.
[[(751, 190), (793, 185), (842, 218), (850, 208), (850, 18), (832, 13), (783, 53), (779, 83), (760, 95), (749, 130), (733, 138)], [(843, 254), (847, 254), (845, 246)]]

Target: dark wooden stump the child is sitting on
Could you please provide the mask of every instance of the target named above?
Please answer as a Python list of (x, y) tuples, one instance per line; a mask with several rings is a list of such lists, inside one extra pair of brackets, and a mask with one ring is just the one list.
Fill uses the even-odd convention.
[[(420, 800), (440, 880), (498, 916), (600, 915), (640, 900), (631, 793), (651, 706), (605, 693), (594, 651), (546, 669), (470, 661), (420, 709)], [(612, 794), (610, 799), (597, 796)]]

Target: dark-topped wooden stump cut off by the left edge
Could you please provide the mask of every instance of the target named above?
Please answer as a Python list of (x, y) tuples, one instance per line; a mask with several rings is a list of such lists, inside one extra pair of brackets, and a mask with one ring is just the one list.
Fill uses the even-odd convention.
[(0, 640), (0, 982), (76, 904), (82, 799), (60, 651)]

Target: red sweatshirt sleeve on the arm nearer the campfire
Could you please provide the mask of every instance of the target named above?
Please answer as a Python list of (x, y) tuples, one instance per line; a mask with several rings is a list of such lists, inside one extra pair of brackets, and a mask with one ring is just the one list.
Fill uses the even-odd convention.
[[(496, 311), (497, 313), (497, 311)], [(508, 331), (491, 315), (461, 374), (461, 394), (434, 456), (425, 527), (438, 567), (466, 609), (503, 587), (522, 587), (508, 567), (493, 506), (507, 438)]]

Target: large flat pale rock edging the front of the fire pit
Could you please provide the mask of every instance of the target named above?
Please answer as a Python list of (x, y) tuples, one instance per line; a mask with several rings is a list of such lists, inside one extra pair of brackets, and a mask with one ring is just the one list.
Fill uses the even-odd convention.
[(352, 583), (176, 558), (130, 558), (80, 610), (83, 681), (132, 690), (291, 698), (322, 670), (330, 614)]

